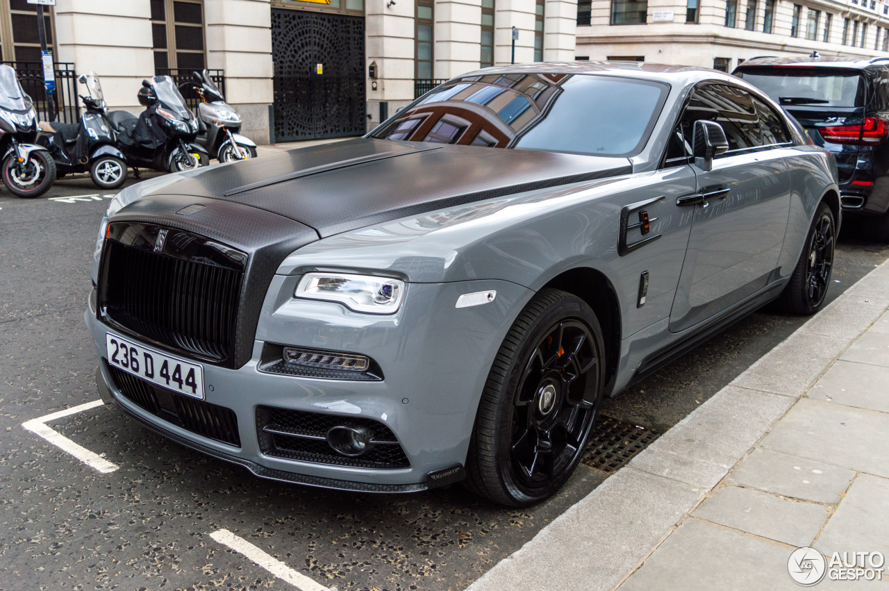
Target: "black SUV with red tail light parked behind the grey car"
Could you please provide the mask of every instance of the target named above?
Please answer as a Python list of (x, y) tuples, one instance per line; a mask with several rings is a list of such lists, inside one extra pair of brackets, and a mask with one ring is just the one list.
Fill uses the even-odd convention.
[(889, 241), (889, 58), (755, 58), (733, 74), (833, 152), (844, 213), (867, 216)]

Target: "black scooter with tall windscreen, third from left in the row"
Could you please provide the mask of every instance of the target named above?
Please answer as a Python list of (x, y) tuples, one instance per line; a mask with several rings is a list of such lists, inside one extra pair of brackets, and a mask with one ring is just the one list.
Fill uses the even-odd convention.
[(140, 116), (127, 111), (106, 115), (137, 178), (138, 167), (180, 172), (209, 164), (207, 151), (195, 143), (197, 118), (170, 76), (143, 80), (138, 98), (146, 108)]

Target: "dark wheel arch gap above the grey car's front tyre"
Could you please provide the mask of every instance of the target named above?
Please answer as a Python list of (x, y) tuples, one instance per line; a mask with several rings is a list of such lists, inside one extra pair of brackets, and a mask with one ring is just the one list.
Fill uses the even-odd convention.
[(572, 293), (596, 313), (605, 338), (605, 395), (611, 395), (621, 351), (621, 307), (613, 284), (601, 271), (581, 267), (553, 277), (547, 287)]

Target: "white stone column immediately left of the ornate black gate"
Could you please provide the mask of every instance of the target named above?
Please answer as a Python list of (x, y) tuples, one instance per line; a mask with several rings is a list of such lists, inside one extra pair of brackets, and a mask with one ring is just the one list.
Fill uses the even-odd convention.
[(225, 71), (226, 101), (244, 120), (241, 132), (268, 144), (268, 107), (275, 100), (268, 0), (208, 0), (204, 28), (207, 68)]

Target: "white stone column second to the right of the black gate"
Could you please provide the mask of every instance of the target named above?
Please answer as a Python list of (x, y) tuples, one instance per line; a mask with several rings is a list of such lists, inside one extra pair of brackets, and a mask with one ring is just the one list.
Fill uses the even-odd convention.
[(482, 0), (436, 0), (435, 76), (453, 78), (479, 68)]

